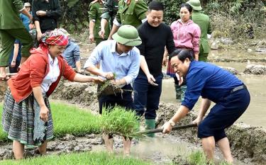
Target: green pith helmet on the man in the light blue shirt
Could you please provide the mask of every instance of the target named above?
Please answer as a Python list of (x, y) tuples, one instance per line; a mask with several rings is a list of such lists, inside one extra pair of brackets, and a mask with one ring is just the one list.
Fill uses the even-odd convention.
[(141, 39), (138, 36), (138, 30), (132, 25), (122, 25), (117, 32), (113, 34), (113, 40), (126, 46), (138, 46)]

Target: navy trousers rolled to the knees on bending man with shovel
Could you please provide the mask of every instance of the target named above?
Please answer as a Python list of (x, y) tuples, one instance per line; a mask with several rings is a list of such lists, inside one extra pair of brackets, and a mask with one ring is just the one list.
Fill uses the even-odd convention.
[(198, 137), (214, 136), (216, 142), (223, 139), (226, 137), (224, 129), (233, 125), (249, 104), (250, 93), (248, 89), (240, 89), (222, 98), (199, 124)]

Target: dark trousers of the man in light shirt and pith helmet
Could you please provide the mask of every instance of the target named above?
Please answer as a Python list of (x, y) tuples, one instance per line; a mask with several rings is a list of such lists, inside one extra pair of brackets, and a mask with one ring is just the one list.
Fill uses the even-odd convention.
[[(122, 89), (132, 90), (132, 86), (128, 84), (123, 86)], [(123, 93), (118, 93), (116, 95), (101, 96), (99, 98), (99, 113), (102, 113), (104, 107), (113, 108), (116, 105), (133, 110), (132, 91), (123, 91)]]

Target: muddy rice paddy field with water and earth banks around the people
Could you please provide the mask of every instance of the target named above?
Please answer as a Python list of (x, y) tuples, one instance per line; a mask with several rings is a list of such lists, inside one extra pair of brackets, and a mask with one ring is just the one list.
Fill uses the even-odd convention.
[[(94, 45), (80, 44), (82, 64), (92, 52)], [(251, 94), (251, 103), (245, 114), (232, 127), (228, 128), (227, 135), (231, 142), (231, 149), (235, 157), (235, 164), (266, 164), (266, 53), (233, 51), (212, 51), (209, 61), (231, 72), (243, 80)], [(160, 108), (157, 111), (157, 127), (169, 120), (179, 107), (179, 101), (174, 98), (174, 82), (167, 78), (163, 80), (163, 90)], [(0, 84), (0, 99), (3, 99), (6, 84)], [(53, 102), (71, 104), (98, 113), (96, 100), (96, 86), (94, 84), (80, 84), (62, 80), (52, 94)], [(192, 122), (197, 115), (197, 104), (180, 125)], [(123, 153), (123, 142), (115, 137), (116, 152)], [(11, 143), (0, 145), (0, 159), (12, 158)], [(173, 131), (171, 135), (158, 133), (155, 138), (133, 140), (131, 157), (151, 161), (152, 164), (187, 164), (184, 157), (201, 149), (196, 137), (196, 128)], [(104, 151), (101, 135), (90, 134), (82, 137), (65, 135), (48, 143), (48, 154), (61, 154), (84, 151)], [(32, 149), (26, 154), (34, 155)], [(216, 150), (216, 161), (221, 161), (221, 152)], [(0, 161), (1, 164), (1, 161)]]

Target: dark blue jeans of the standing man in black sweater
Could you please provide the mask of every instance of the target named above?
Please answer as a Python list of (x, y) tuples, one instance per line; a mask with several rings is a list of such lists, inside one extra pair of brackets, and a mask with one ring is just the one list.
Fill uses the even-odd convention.
[[(147, 76), (139, 73), (134, 81), (134, 106), (137, 115), (142, 116), (145, 113), (145, 119), (155, 119), (158, 109), (160, 96), (162, 93), (162, 77), (155, 76), (155, 83), (158, 86), (152, 86), (148, 83)], [(146, 108), (146, 110), (145, 110)]]

